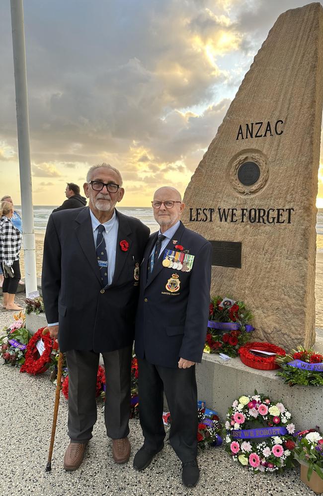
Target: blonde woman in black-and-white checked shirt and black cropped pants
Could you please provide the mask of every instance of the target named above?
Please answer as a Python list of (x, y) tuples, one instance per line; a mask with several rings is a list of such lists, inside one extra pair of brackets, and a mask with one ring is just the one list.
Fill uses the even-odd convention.
[(22, 310), (22, 307), (14, 303), (20, 280), (21, 233), (12, 224), (13, 213), (12, 203), (3, 201), (0, 205), (0, 264), (4, 276), (2, 284), (3, 308)]

